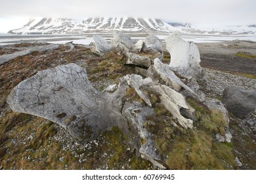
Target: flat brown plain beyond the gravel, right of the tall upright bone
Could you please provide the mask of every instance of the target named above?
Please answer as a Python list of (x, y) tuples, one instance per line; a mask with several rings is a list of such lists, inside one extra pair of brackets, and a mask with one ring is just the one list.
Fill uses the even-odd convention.
[(256, 44), (251, 41), (198, 43), (201, 66), (253, 77), (256, 74)]

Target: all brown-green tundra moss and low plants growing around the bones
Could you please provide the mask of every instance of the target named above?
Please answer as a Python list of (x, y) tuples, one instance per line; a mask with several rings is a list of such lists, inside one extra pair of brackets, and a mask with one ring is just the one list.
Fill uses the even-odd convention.
[[(0, 48), (0, 55), (16, 52), (16, 48), (34, 46), (33, 43), (16, 44)], [(155, 53), (154, 53), (155, 54)], [(155, 58), (150, 52), (140, 56)], [(238, 53), (237, 56), (251, 58)], [(163, 52), (163, 63), (169, 63), (169, 52)], [(125, 64), (127, 56), (112, 50), (103, 56), (91, 51), (87, 46), (75, 45), (73, 50), (62, 44), (51, 52), (33, 52), (0, 65), (0, 169), (158, 169), (150, 161), (137, 156), (129, 145), (129, 137), (118, 127), (104, 131), (97, 139), (80, 144), (60, 125), (49, 120), (13, 112), (7, 104), (11, 90), (22, 80), (30, 78), (38, 71), (58, 65), (76, 63), (87, 71), (93, 86), (103, 91), (110, 84), (118, 84), (119, 78), (136, 73), (133, 65)], [(143, 90), (143, 88), (142, 88)], [(156, 149), (164, 156), (167, 169), (240, 169), (236, 161), (234, 146), (242, 146), (239, 141), (219, 142), (217, 133), (225, 135), (228, 122), (222, 112), (211, 110), (195, 97), (186, 97), (186, 102), (195, 110), (194, 127), (184, 129), (175, 126), (173, 115), (160, 103), (160, 96), (144, 88), (149, 93), (150, 102), (156, 115), (146, 116), (145, 129), (153, 134)], [(135, 88), (129, 88), (126, 100), (146, 105)], [(65, 113), (56, 114), (64, 118)], [(70, 116), (66, 123), (76, 120)], [(240, 131), (232, 124), (235, 131)], [(255, 150), (255, 142), (247, 136), (244, 151)], [(140, 139), (142, 144), (147, 139)], [(254, 159), (247, 165), (256, 167)]]

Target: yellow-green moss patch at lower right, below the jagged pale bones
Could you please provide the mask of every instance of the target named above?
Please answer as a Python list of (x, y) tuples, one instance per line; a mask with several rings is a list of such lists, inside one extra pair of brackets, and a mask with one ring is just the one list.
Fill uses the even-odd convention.
[[(215, 141), (216, 133), (224, 135), (227, 122), (219, 110), (209, 110), (194, 98), (187, 98), (196, 109), (196, 129), (177, 131), (173, 127), (161, 127), (170, 137), (156, 135), (154, 142), (160, 154), (166, 156), (169, 169), (232, 169), (234, 154), (231, 143)], [(179, 133), (177, 133), (179, 132)], [(221, 144), (221, 145), (219, 145)], [(226, 154), (224, 153), (226, 152)]]

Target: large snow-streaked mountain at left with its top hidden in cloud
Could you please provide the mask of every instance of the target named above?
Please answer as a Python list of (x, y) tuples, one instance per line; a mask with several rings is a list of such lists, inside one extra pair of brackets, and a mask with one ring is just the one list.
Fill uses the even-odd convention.
[(53, 33), (87, 33), (97, 31), (181, 31), (163, 20), (154, 18), (87, 18), (72, 20), (68, 18), (35, 18), (20, 29), (9, 33), (14, 34), (53, 34)]

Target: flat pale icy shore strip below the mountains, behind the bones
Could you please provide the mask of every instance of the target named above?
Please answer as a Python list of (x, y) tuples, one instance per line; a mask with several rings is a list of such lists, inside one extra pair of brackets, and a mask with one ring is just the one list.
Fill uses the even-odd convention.
[[(93, 35), (102, 35), (105, 39), (111, 39), (112, 33), (83, 33), (83, 34), (55, 34), (55, 35), (11, 35), (11, 34), (2, 34), (0, 35), (0, 44), (15, 44), (20, 42), (37, 42), (37, 41), (47, 41), (51, 43), (64, 43), (70, 41), (77, 41), (78, 44), (83, 44), (83, 40), (85, 44), (88, 41), (93, 42)], [(164, 41), (164, 37), (169, 35), (169, 33), (137, 33), (137, 32), (127, 32), (127, 34), (133, 39), (133, 41), (137, 41), (139, 39), (144, 39), (147, 35), (153, 34), (157, 35), (162, 41)], [(256, 35), (196, 35), (196, 34), (182, 34), (183, 39), (186, 41), (193, 41), (196, 43), (200, 42), (222, 42), (222, 41), (233, 41), (236, 39), (245, 40), (245, 41), (254, 41), (256, 42)], [(88, 43), (89, 44), (89, 43)]]

